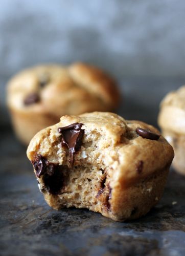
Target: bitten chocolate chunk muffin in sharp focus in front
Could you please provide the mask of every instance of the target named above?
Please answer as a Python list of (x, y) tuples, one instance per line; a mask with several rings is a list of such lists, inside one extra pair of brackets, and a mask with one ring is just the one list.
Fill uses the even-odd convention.
[(174, 152), (153, 126), (94, 112), (61, 117), (35, 135), (27, 155), (51, 207), (88, 208), (123, 221), (159, 201)]

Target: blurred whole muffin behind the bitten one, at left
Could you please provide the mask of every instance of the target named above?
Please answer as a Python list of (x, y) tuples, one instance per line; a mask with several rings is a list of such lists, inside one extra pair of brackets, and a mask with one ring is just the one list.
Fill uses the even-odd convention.
[(98, 68), (43, 65), (24, 70), (8, 83), (7, 102), (17, 137), (25, 144), (62, 115), (110, 111), (120, 96), (117, 83)]

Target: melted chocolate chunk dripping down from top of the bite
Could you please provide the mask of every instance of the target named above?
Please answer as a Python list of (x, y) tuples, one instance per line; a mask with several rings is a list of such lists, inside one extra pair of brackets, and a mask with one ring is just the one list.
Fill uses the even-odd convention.
[(65, 127), (58, 128), (58, 132), (62, 134), (62, 145), (66, 145), (70, 151), (70, 163), (73, 167), (75, 153), (78, 152), (82, 145), (84, 130), (81, 129), (82, 123), (73, 123)]

